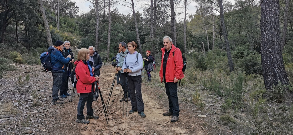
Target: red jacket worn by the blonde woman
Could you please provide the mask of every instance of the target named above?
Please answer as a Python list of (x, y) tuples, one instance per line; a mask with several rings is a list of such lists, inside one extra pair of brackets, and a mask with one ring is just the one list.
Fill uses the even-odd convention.
[(96, 78), (91, 76), (91, 73), (88, 70), (88, 65), (84, 64), (84, 61), (75, 61), (74, 64), (76, 65), (76, 79), (78, 79), (76, 83), (77, 93), (90, 93), (92, 83), (96, 81)]

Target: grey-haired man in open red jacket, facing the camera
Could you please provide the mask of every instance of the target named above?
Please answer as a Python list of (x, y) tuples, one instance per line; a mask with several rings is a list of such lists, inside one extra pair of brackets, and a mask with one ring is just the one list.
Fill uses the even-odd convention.
[(182, 68), (182, 53), (179, 48), (172, 44), (171, 37), (163, 37), (162, 61), (160, 69), (161, 83), (164, 81), (166, 94), (169, 100), (169, 111), (163, 113), (164, 116), (173, 115), (171, 122), (179, 119), (179, 103), (177, 95), (178, 80), (184, 77)]

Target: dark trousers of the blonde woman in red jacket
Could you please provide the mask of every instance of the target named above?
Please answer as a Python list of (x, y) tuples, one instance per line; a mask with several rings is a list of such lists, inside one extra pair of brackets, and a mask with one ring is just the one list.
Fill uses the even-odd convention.
[(93, 116), (93, 92), (79, 94), (79, 102), (77, 104), (77, 119), (84, 119), (83, 112), (85, 103), (87, 115)]

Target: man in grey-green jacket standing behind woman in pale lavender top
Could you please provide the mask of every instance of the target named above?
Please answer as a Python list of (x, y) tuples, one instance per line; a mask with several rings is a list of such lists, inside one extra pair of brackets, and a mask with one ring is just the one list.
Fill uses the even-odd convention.
[(117, 63), (116, 71), (120, 72), (120, 83), (121, 83), (121, 86), (122, 86), (122, 89), (123, 89), (123, 92), (124, 92), (123, 98), (120, 99), (119, 101), (120, 102), (122, 102), (122, 101), (126, 102), (126, 101), (130, 101), (130, 94), (129, 93), (127, 94), (127, 89), (125, 89), (125, 73), (122, 70), (122, 66), (123, 66), (125, 55), (128, 53), (128, 49), (126, 49), (127, 47), (126, 47), (125, 42), (120, 42), (118, 45), (119, 45), (119, 50), (121, 52), (120, 52), (119, 61)]

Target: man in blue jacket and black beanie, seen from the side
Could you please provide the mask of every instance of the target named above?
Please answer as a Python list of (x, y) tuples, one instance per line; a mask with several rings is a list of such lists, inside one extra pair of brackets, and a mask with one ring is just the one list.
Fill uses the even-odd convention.
[[(62, 76), (64, 72), (64, 64), (71, 61), (71, 55), (63, 57), (64, 43), (60, 40), (55, 42), (55, 46), (50, 46), (48, 52), (50, 53), (51, 64), (52, 64), (52, 76), (53, 76), (53, 87), (52, 87), (52, 104), (63, 104), (64, 100), (59, 99), (58, 92), (62, 84)], [(52, 52), (53, 51), (53, 52)]]

